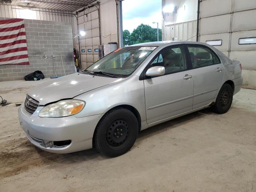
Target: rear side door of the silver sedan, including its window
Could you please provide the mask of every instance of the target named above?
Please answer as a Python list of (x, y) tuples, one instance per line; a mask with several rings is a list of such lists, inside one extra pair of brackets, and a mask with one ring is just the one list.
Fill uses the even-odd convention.
[(212, 102), (218, 93), (224, 76), (220, 58), (207, 46), (188, 44), (188, 52), (194, 77), (193, 109)]

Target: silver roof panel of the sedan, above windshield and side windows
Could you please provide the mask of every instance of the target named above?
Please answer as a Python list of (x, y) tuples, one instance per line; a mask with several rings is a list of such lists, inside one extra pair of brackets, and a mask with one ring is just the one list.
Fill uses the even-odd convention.
[(172, 44), (200, 44), (200, 45), (206, 45), (209, 46), (209, 44), (202, 43), (202, 42), (195, 42), (195, 41), (155, 41), (155, 42), (146, 42), (146, 43), (139, 43), (130, 45), (131, 46), (168, 46)]

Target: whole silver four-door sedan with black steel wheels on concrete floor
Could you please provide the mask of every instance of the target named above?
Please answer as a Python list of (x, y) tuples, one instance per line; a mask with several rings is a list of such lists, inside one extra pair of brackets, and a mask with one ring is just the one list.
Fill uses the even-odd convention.
[(207, 107), (226, 113), (242, 86), (241, 71), (239, 61), (204, 43), (127, 46), (29, 92), (20, 124), (48, 152), (95, 147), (119, 156), (140, 130)]

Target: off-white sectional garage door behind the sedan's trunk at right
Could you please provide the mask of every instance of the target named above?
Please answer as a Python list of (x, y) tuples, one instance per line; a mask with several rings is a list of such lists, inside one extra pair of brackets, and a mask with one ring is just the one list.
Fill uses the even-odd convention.
[(200, 0), (198, 41), (222, 40), (216, 46), (242, 64), (243, 86), (256, 89), (256, 44), (238, 44), (256, 37), (256, 0)]

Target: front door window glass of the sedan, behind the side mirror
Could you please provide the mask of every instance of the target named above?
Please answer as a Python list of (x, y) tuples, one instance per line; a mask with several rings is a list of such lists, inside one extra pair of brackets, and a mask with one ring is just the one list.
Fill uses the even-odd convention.
[(150, 66), (164, 66), (165, 74), (187, 69), (183, 46), (168, 47), (161, 50)]

